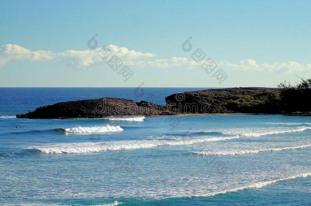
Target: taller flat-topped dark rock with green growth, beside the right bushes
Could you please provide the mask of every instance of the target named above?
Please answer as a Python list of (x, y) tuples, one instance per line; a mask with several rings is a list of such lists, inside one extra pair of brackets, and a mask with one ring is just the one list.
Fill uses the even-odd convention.
[(177, 93), (165, 98), (177, 113), (278, 113), (279, 91), (240, 87)]

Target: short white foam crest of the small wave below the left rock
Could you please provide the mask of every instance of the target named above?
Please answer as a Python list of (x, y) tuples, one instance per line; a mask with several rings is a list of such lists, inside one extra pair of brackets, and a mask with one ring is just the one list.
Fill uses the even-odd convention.
[(120, 132), (123, 129), (120, 126), (101, 126), (101, 127), (73, 127), (64, 128), (65, 132), (68, 133), (107, 133), (107, 132)]

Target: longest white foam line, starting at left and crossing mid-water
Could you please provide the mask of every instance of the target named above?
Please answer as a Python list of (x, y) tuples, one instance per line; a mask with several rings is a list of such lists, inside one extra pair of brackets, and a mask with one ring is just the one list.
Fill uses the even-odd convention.
[(42, 146), (31, 146), (25, 149), (37, 150), (44, 154), (75, 154), (93, 153), (117, 150), (136, 150), (156, 148), (158, 146), (190, 145), (209, 141), (223, 141), (239, 138), (232, 137), (204, 137), (204, 138), (184, 138), (175, 141), (169, 140), (128, 140), (128, 141), (107, 141), (107, 142), (82, 142), (82, 143), (62, 143), (47, 144)]

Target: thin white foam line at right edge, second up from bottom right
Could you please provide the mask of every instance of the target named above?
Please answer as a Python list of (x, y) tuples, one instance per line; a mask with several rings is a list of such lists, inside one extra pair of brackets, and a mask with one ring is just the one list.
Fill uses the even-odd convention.
[(238, 150), (238, 151), (219, 151), (219, 152), (191, 152), (197, 155), (204, 155), (204, 156), (227, 156), (227, 155), (247, 155), (247, 154), (256, 154), (261, 152), (277, 152), (283, 150), (296, 150), (296, 149), (304, 149), (310, 148), (311, 144), (305, 144), (300, 146), (286, 146), (284, 148), (267, 148), (267, 149), (260, 149), (260, 150)]

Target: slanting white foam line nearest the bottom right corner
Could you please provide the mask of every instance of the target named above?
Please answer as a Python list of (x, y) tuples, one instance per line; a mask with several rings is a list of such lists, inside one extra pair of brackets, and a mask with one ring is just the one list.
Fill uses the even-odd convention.
[(280, 182), (280, 181), (293, 180), (293, 179), (297, 179), (297, 178), (307, 178), (308, 176), (311, 176), (311, 172), (305, 172), (305, 173), (301, 173), (301, 174), (287, 176), (286, 178), (250, 183), (250, 184), (246, 184), (246, 185), (241, 186), (241, 187), (236, 187), (236, 188), (227, 189), (227, 190), (223, 190), (223, 191), (206, 193), (203, 195), (193, 195), (193, 196), (215, 196), (218, 194), (225, 194), (228, 192), (236, 192), (236, 191), (245, 190), (245, 189), (263, 188), (263, 187), (266, 187), (266, 186), (271, 185), (271, 184), (275, 184), (275, 183)]

